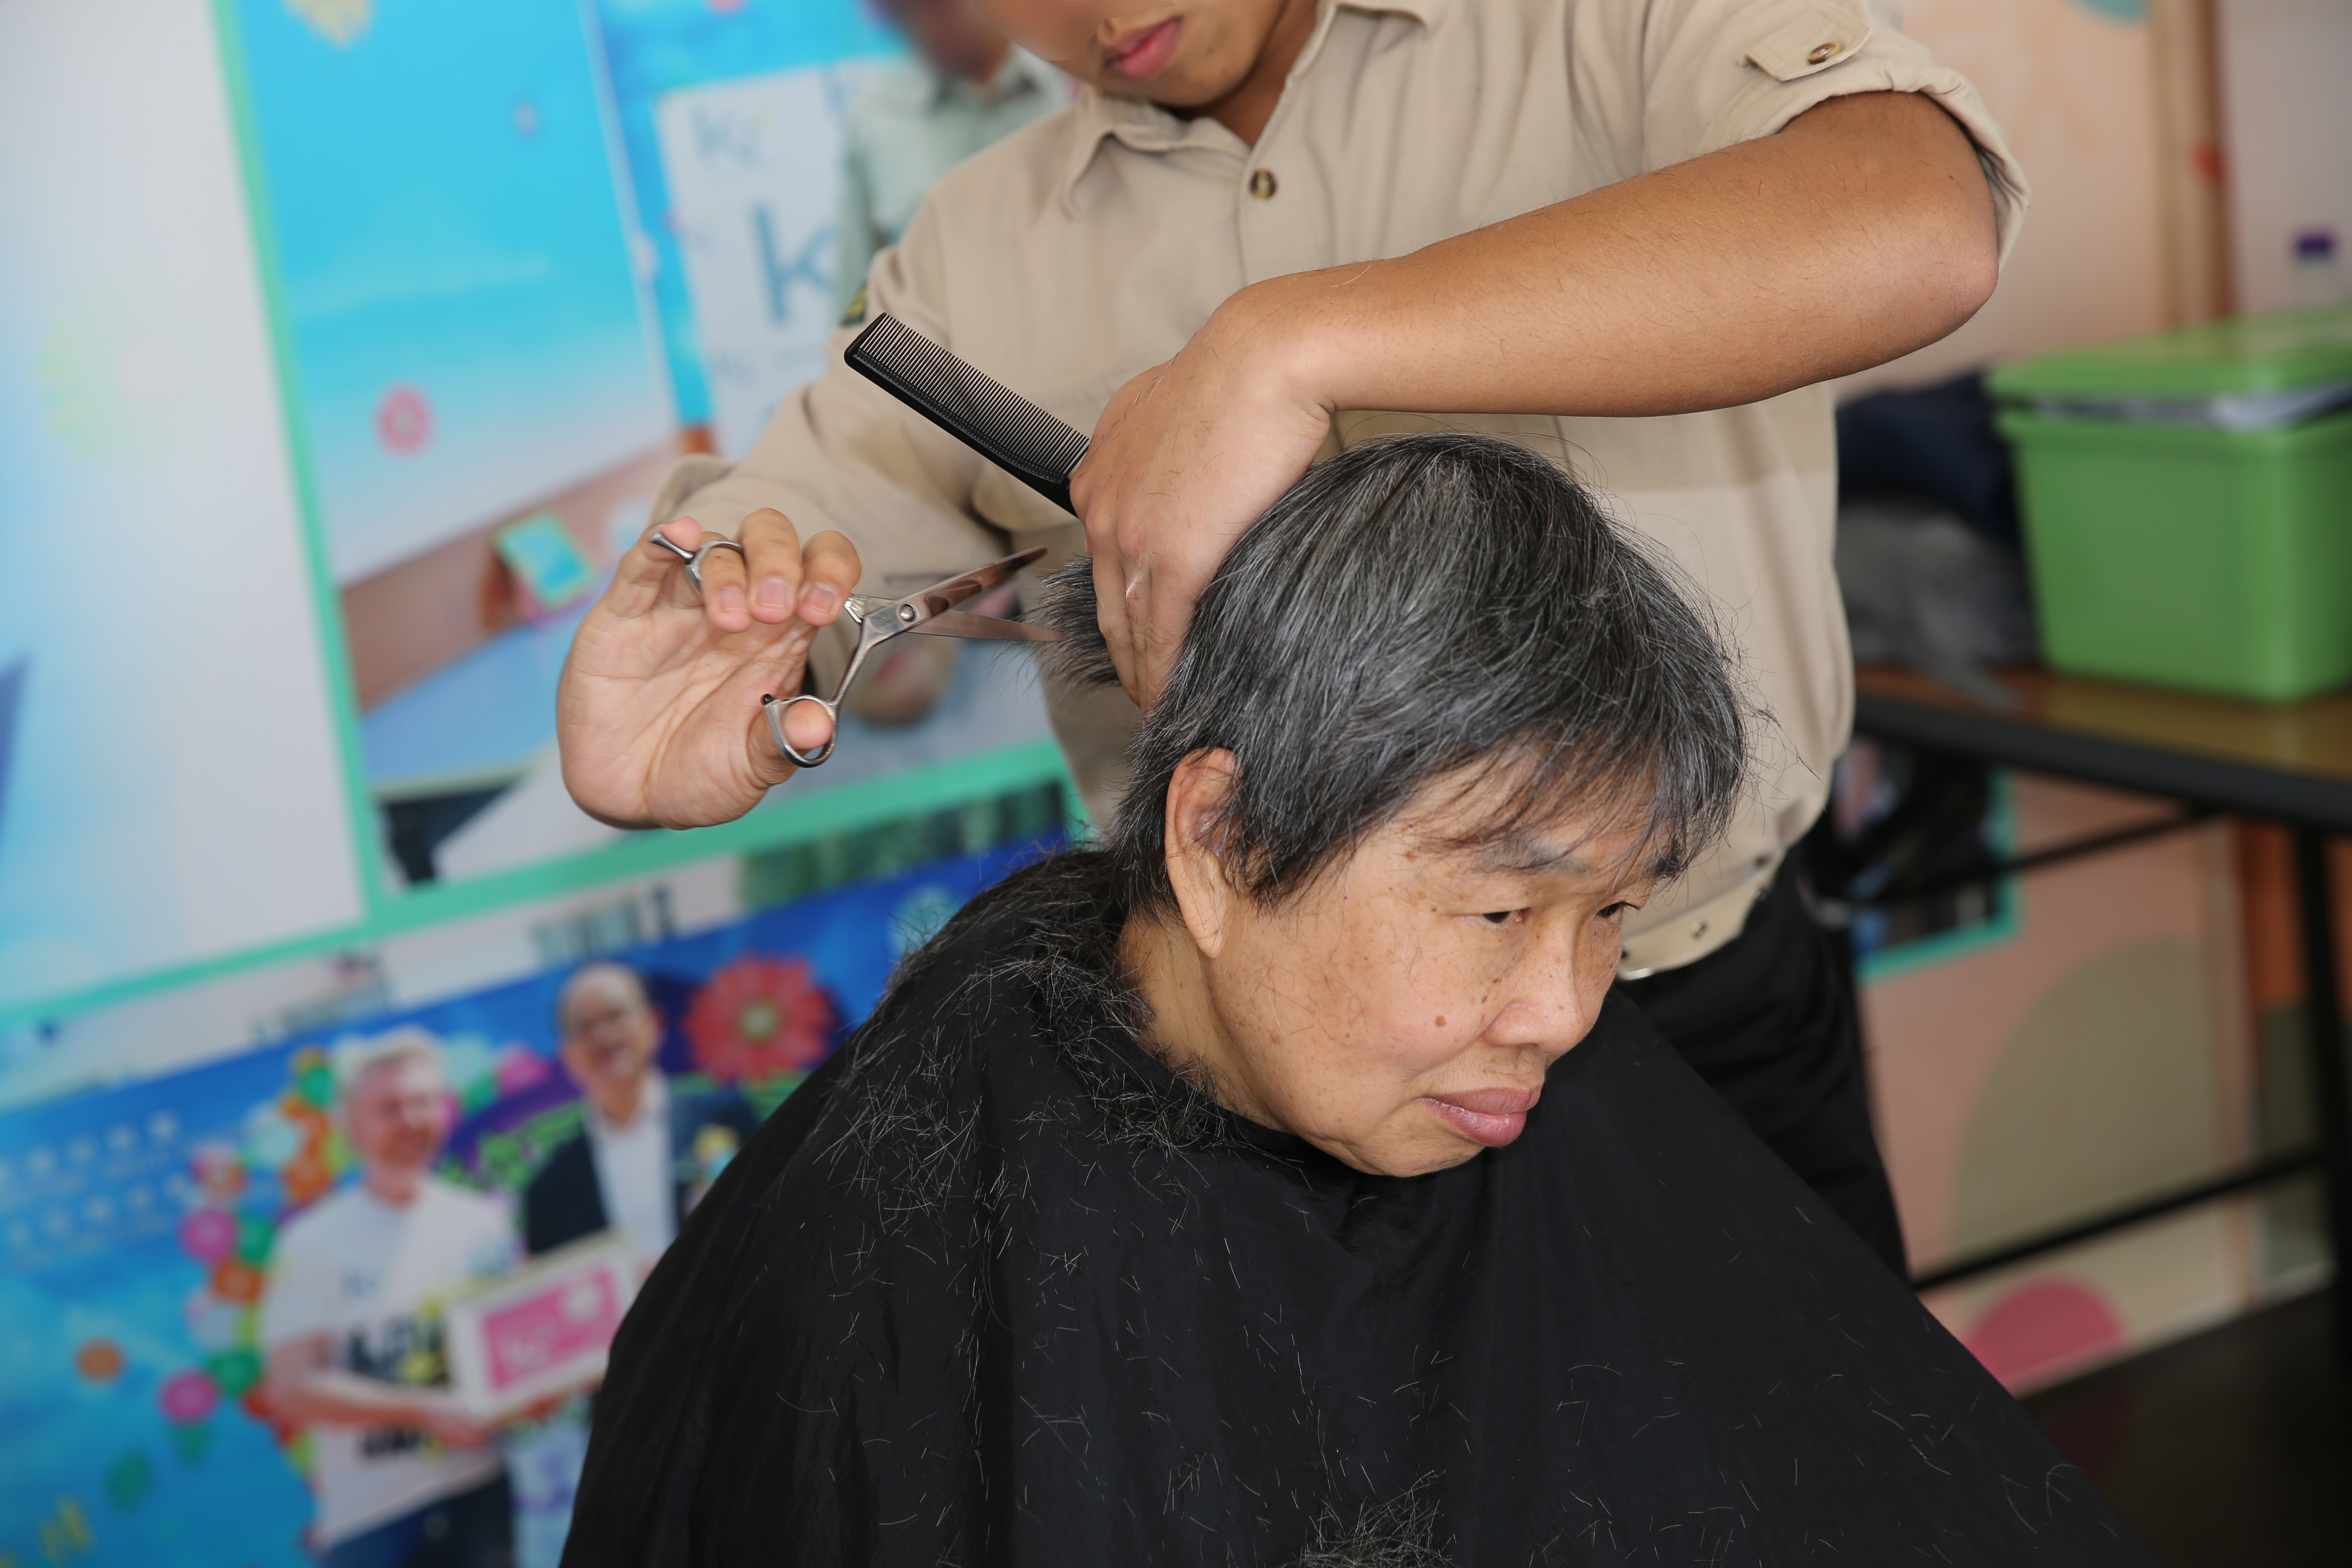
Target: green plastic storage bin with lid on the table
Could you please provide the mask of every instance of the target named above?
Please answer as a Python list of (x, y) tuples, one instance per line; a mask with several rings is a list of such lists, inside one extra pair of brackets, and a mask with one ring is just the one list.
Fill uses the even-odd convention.
[(2009, 367), (2056, 670), (2293, 703), (2352, 684), (2352, 411), (2267, 430), (2096, 418), (2352, 381), (2352, 310), (2209, 322)]

